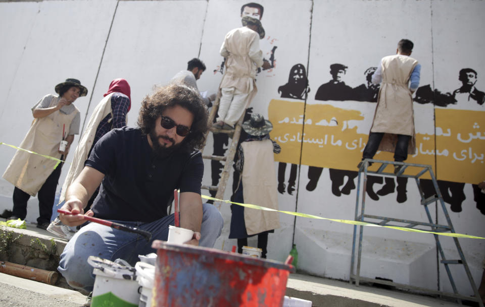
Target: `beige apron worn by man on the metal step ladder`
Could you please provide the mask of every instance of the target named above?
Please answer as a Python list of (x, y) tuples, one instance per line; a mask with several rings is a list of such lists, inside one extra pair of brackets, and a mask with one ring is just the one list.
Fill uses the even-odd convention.
[(411, 136), (408, 153), (416, 150), (414, 131), (413, 98), (409, 79), (417, 60), (406, 55), (390, 55), (382, 58), (382, 83), (370, 132), (383, 132), (379, 150), (394, 152), (397, 135)]

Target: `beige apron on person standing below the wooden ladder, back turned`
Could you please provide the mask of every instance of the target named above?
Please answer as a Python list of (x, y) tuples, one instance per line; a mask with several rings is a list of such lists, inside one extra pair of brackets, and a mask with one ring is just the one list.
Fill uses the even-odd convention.
[[(276, 171), (271, 140), (241, 143), (244, 153), (243, 197), (247, 204), (278, 210)], [(244, 208), (248, 235), (279, 228), (279, 213)]]

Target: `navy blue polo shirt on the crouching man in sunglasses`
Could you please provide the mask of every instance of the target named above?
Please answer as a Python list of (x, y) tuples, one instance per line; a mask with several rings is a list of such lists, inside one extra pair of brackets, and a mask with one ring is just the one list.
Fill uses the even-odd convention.
[(139, 128), (108, 132), (84, 165), (105, 174), (91, 207), (94, 216), (102, 219), (152, 222), (167, 216), (174, 189), (201, 194), (201, 152), (157, 157)]

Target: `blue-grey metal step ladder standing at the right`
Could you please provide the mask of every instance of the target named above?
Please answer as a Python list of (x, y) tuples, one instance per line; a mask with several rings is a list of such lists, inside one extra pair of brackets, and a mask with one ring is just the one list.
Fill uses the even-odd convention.
[[(378, 164), (379, 167), (376, 171), (371, 171), (368, 170), (370, 164)], [(399, 170), (395, 172), (387, 172), (385, 169), (387, 166), (399, 166)], [(408, 169), (408, 173), (415, 173), (415, 174), (404, 174), (404, 172)], [(394, 170), (394, 169), (393, 169)], [(429, 174), (431, 177), (432, 183), (434, 190), (436, 192), (435, 195), (425, 198), (423, 190), (421, 188), (420, 184), (420, 177)], [(376, 215), (368, 215), (364, 213), (365, 209), (365, 188), (360, 189), (360, 182), (361, 178), (363, 177), (363, 187), (366, 187), (367, 185), (367, 174), (373, 174), (373, 175), (386, 175), (386, 176), (395, 176), (395, 177), (409, 177), (409, 178), (414, 178), (416, 180), (416, 184), (418, 186), (419, 193), (421, 195), (421, 205), (424, 207), (424, 210), (426, 211), (426, 215), (428, 217), (427, 222), (419, 222), (419, 221), (409, 221), (409, 220), (403, 220), (403, 219), (398, 219), (398, 218), (393, 218), (393, 217), (384, 217), (384, 216), (376, 216)], [(362, 195), (360, 195), (362, 193)], [(360, 202), (360, 213), (359, 213), (359, 202)], [(437, 210), (440, 207), (443, 209), (443, 213), (446, 217), (447, 224), (442, 225), (442, 224), (437, 224), (433, 222), (431, 214), (429, 212), (428, 205), (432, 204), (434, 202), (439, 202)], [(361, 221), (361, 222), (367, 222), (367, 223), (372, 223), (372, 224), (378, 224), (378, 225), (385, 225), (385, 226), (401, 226), (401, 227), (407, 227), (407, 228), (414, 228), (414, 229), (420, 229), (420, 230), (427, 230), (427, 231), (433, 231), (433, 232), (452, 232), (455, 233), (455, 229), (453, 228), (453, 224), (451, 222), (450, 216), (448, 214), (448, 211), (445, 206), (445, 202), (443, 201), (442, 194), (440, 192), (440, 189), (438, 187), (438, 182), (436, 181), (436, 178), (434, 177), (433, 170), (430, 165), (423, 165), (423, 164), (412, 164), (412, 163), (404, 163), (404, 162), (395, 162), (395, 161), (383, 161), (383, 160), (373, 160), (373, 159), (365, 159), (362, 161), (360, 164), (359, 168), (359, 177), (358, 177), (358, 185), (357, 185), (357, 199), (356, 199), (356, 205), (355, 205), (355, 220), (356, 221)], [(384, 284), (384, 285), (390, 285), (390, 286), (396, 286), (399, 288), (407, 288), (407, 289), (413, 289), (413, 290), (419, 290), (425, 293), (429, 294), (437, 294), (440, 296), (448, 296), (448, 297), (453, 297), (456, 298), (458, 303), (462, 303), (463, 300), (469, 300), (469, 301), (476, 301), (478, 302), (478, 305), (480, 307), (483, 307), (483, 302), (480, 298), (480, 295), (478, 294), (477, 287), (473, 281), (473, 277), (471, 276), (470, 269), (468, 268), (468, 264), (466, 263), (465, 256), (463, 254), (463, 251), (460, 247), (460, 243), (458, 242), (458, 238), (453, 237), (453, 240), (456, 245), (456, 250), (458, 251), (458, 254), (460, 256), (460, 259), (458, 260), (448, 260), (445, 258), (445, 253), (443, 251), (443, 248), (440, 243), (440, 237), (437, 234), (434, 235), (434, 240), (436, 242), (436, 248), (438, 250), (438, 253), (441, 257), (441, 263), (445, 266), (446, 272), (448, 274), (448, 278), (450, 279), (451, 286), (453, 288), (454, 293), (447, 293), (447, 292), (442, 292), (442, 291), (435, 291), (435, 290), (430, 290), (426, 288), (421, 288), (421, 287), (416, 287), (416, 286), (411, 286), (411, 285), (406, 285), (406, 284), (400, 284), (400, 283), (395, 283), (392, 281), (387, 281), (387, 280), (382, 280), (382, 279), (374, 279), (374, 278), (367, 278), (367, 277), (361, 277), (360, 276), (360, 268), (361, 268), (361, 258), (362, 258), (362, 238), (363, 238), (363, 230), (364, 226), (359, 226), (360, 227), (360, 232), (359, 232), (359, 242), (358, 242), (358, 251), (357, 251), (357, 268), (356, 268), (356, 273), (354, 274), (354, 266), (355, 266), (355, 254), (356, 254), (356, 234), (357, 234), (357, 225), (354, 225), (354, 236), (352, 240), (352, 259), (351, 259), (351, 265), (350, 265), (350, 283), (355, 281), (355, 284), (358, 286), (360, 281), (366, 281), (366, 282), (373, 282), (373, 283), (378, 283), (378, 284)], [(455, 282), (453, 280), (449, 265), (453, 264), (458, 264), (458, 265), (463, 265), (466, 275), (468, 276), (468, 280), (470, 282), (470, 285), (473, 289), (473, 293), (475, 294), (474, 297), (472, 296), (464, 296), (460, 295), (456, 289)]]

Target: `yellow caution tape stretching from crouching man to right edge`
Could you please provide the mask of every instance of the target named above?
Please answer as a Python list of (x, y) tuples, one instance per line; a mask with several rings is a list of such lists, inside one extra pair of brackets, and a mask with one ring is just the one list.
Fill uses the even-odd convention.
[(275, 209), (266, 208), (266, 207), (262, 207), (262, 206), (258, 206), (258, 205), (241, 204), (241, 203), (231, 202), (231, 201), (228, 201), (228, 200), (220, 200), (220, 199), (210, 197), (210, 196), (206, 196), (206, 195), (201, 195), (201, 197), (204, 198), (204, 199), (207, 199), (207, 200), (213, 200), (213, 201), (217, 201), (217, 202), (239, 205), (239, 206), (243, 206), (243, 207), (246, 207), (246, 208), (265, 210), (265, 211), (275, 211), (275, 212), (281, 212), (281, 213), (285, 213), (285, 214), (289, 214), (289, 215), (295, 215), (295, 216), (307, 217), (307, 218), (313, 218), (313, 219), (319, 219), (319, 220), (327, 220), (327, 221), (333, 221), (333, 222), (337, 222), (337, 223), (360, 225), (360, 226), (371, 226), (371, 227), (384, 227), (384, 228), (391, 228), (391, 229), (410, 231), (410, 232), (432, 233), (432, 234), (445, 235), (445, 236), (451, 236), (451, 237), (457, 237), (457, 238), (485, 239), (484, 237), (481, 237), (481, 236), (474, 236), (474, 235), (468, 235), (468, 234), (462, 234), (462, 233), (434, 232), (434, 231), (413, 229), (413, 228), (400, 227), (400, 226), (377, 225), (377, 224), (360, 222), (360, 221), (353, 221), (353, 220), (332, 219), (332, 218), (326, 218), (326, 217), (321, 217), (321, 216), (317, 216), (317, 215), (313, 215), (313, 214), (300, 213), (300, 212), (281, 211), (281, 210), (275, 210)]

